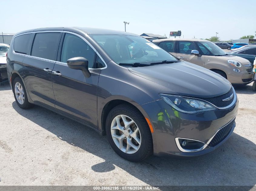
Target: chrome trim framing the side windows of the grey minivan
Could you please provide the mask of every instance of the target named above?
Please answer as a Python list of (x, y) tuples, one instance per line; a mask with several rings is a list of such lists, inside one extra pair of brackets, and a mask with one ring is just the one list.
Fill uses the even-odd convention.
[(49, 60), (49, 59), (45, 59), (45, 58), (40, 58), (40, 57), (36, 57), (36, 56), (31, 56), (31, 55), (27, 55), (27, 54), (21, 54), (21, 53), (15, 53), (14, 51), (14, 40), (16, 37), (18, 36), (21, 36), (21, 35), (24, 35), (24, 34), (31, 34), (31, 33), (50, 33), (50, 32), (55, 32), (55, 33), (69, 33), (69, 34), (73, 34), (79, 38), (81, 38), (82, 40), (84, 40), (94, 51), (95, 53), (100, 57), (100, 59), (104, 62), (105, 64), (105, 67), (103, 68), (88, 68), (89, 70), (98, 70), (98, 69), (105, 69), (105, 68), (108, 68), (108, 65), (107, 63), (105, 62), (105, 60), (101, 57), (101, 55), (98, 53), (98, 51), (91, 45), (91, 43), (88, 42), (88, 40), (86, 40), (84, 37), (82, 37), (81, 35), (79, 34), (76, 34), (76, 33), (73, 33), (73, 32), (70, 32), (70, 31), (63, 31), (63, 30), (47, 30), (47, 31), (33, 31), (33, 32), (28, 32), (28, 33), (22, 33), (22, 34), (18, 34), (17, 36), (14, 37), (13, 39), (13, 42), (12, 42), (12, 53), (13, 54), (17, 54), (17, 55), (22, 55), (22, 56), (27, 56), (27, 57), (31, 57), (31, 58), (35, 58), (35, 59), (40, 59), (40, 60), (45, 60), (45, 61), (49, 61), (49, 62), (56, 62), (56, 63), (59, 63), (59, 64), (65, 64), (67, 65), (67, 63), (65, 62), (59, 62), (59, 61), (55, 61), (55, 60)]

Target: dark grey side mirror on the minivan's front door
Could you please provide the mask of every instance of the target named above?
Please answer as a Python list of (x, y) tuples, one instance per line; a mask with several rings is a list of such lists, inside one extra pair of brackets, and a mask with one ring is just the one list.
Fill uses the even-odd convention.
[(91, 73), (88, 69), (88, 60), (84, 57), (74, 57), (67, 60), (67, 64), (69, 68), (75, 70), (81, 70), (86, 78), (91, 76)]

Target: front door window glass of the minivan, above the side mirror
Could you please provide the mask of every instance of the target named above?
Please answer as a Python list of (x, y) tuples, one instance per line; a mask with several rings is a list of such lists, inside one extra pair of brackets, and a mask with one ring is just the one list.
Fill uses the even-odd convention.
[(95, 51), (81, 38), (66, 33), (62, 46), (61, 62), (67, 62), (74, 57), (84, 57), (88, 60), (88, 67), (93, 68)]

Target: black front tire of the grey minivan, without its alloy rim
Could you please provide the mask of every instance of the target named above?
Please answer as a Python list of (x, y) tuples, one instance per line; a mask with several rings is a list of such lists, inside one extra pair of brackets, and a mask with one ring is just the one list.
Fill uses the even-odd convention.
[[(141, 146), (138, 149), (137, 152), (133, 153), (133, 154), (127, 154), (124, 153), (123, 151), (121, 151), (116, 145), (115, 142), (111, 136), (111, 123), (112, 120), (118, 116), (118, 115), (127, 115), (129, 116), (131, 119), (133, 119), (135, 121), (135, 123), (137, 124), (139, 130), (140, 130), (140, 135), (141, 135)], [(129, 108), (125, 108), (125, 107), (115, 107), (113, 108), (109, 114), (108, 117), (106, 119), (106, 134), (107, 134), (107, 138), (108, 138), (108, 142), (110, 143), (111, 147), (113, 148), (113, 150), (122, 158), (127, 159), (128, 161), (140, 161), (143, 160), (145, 158), (145, 156), (147, 155), (148, 152), (148, 148), (150, 147), (149, 142), (150, 142), (150, 137), (148, 136), (148, 131), (150, 131), (149, 127), (146, 126), (145, 124), (145, 119), (144, 118), (141, 119), (141, 117), (137, 116), (133, 111), (131, 111)], [(151, 138), (152, 139), (152, 138)]]

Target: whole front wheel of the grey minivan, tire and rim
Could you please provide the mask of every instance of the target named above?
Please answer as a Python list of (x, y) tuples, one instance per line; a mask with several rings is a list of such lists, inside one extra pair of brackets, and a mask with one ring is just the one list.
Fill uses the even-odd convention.
[[(126, 129), (123, 119), (126, 123), (131, 123), (126, 125)], [(133, 120), (134, 123), (129, 120)], [(119, 127), (117, 127), (118, 121)], [(145, 117), (136, 107), (128, 104), (114, 107), (106, 119), (106, 134), (113, 150), (128, 161), (141, 161), (153, 154), (151, 131)], [(112, 138), (112, 135), (115, 137)], [(128, 147), (127, 142), (132, 146)]]

